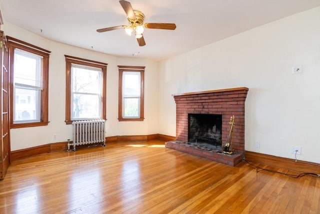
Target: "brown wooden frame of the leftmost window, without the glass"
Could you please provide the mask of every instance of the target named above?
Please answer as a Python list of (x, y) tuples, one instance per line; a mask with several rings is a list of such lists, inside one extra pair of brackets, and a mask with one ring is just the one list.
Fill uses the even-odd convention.
[[(46, 126), (48, 121), (48, 83), (49, 83), (49, 55), (50, 51), (39, 48), (32, 44), (23, 42), (21, 40), (6, 36), (8, 41), (8, 54), (9, 54), (9, 73), (10, 73), (10, 128), (24, 128), (24, 127), (34, 127), (34, 126)], [(23, 51), (27, 51), (39, 56), (42, 56), (42, 83), (43, 89), (40, 93), (40, 121), (39, 122), (29, 122), (29, 123), (13, 123), (13, 66), (14, 66), (14, 49), (18, 48)]]

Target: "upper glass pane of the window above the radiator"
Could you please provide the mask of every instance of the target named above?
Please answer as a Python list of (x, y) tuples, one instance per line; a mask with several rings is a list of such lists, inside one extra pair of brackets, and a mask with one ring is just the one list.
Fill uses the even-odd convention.
[(101, 69), (72, 65), (72, 91), (80, 93), (101, 92)]

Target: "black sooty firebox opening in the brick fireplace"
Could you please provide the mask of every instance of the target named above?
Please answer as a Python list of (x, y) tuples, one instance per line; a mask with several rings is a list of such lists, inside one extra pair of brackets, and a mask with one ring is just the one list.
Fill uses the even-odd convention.
[(221, 150), (222, 115), (188, 114), (188, 142)]

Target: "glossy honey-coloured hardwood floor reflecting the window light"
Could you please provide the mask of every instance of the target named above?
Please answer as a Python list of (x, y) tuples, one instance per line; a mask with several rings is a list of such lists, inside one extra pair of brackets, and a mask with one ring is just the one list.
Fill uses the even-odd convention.
[(0, 181), (0, 213), (320, 213), (319, 200), (320, 177), (256, 173), (159, 140), (16, 160)]

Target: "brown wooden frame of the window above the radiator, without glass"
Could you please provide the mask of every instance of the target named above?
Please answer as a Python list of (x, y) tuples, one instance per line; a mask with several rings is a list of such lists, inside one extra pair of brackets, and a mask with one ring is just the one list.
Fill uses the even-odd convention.
[(71, 63), (102, 70), (101, 119), (106, 120), (106, 63), (64, 55), (65, 57), (65, 123), (71, 124)]

